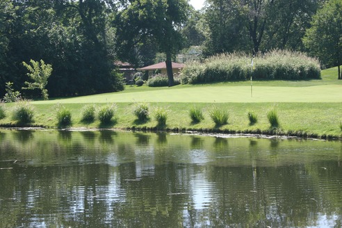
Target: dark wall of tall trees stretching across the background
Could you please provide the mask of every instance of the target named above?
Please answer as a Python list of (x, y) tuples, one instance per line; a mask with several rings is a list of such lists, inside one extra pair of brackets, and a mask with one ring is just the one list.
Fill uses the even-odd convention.
[(6, 82), (21, 90), (29, 81), (22, 62), (31, 59), (52, 65), (47, 90), (58, 97), (122, 90), (115, 60), (142, 67), (157, 52), (306, 51), (302, 38), (324, 2), (207, 0), (195, 11), (186, 0), (1, 0), (0, 97)]

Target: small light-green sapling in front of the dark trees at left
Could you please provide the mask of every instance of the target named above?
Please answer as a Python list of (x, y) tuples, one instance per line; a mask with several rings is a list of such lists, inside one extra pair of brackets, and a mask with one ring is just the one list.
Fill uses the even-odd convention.
[(35, 90), (38, 89), (42, 92), (42, 98), (44, 100), (49, 99), (49, 94), (47, 93), (47, 79), (52, 72), (52, 66), (49, 64), (45, 64), (43, 60), (40, 60), (40, 63), (35, 60), (30, 60), (31, 65), (23, 62), (22, 64), (29, 70), (27, 76), (29, 76), (34, 82), (25, 81), (25, 85), (27, 87), (23, 87), (25, 90)]

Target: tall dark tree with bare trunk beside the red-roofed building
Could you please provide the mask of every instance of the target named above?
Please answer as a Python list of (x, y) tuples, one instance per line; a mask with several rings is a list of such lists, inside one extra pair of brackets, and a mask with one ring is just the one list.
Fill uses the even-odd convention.
[(181, 49), (183, 38), (179, 29), (186, 22), (186, 0), (133, 0), (125, 4), (118, 20), (119, 45), (134, 49), (143, 38), (151, 36), (158, 51), (166, 54), (169, 86), (174, 85), (172, 54)]

